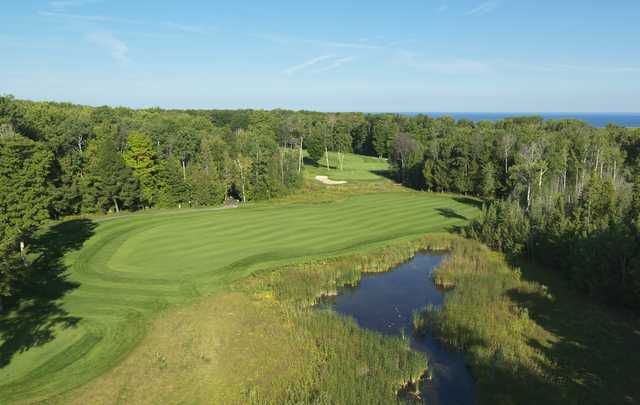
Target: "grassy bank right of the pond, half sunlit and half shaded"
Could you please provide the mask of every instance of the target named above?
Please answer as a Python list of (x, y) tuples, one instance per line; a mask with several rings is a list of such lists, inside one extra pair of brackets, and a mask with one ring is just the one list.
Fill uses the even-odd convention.
[(573, 293), (549, 270), (473, 241), (452, 244), (436, 271), (452, 288), (442, 310), (416, 315), (464, 350), (482, 404), (640, 401), (640, 322)]

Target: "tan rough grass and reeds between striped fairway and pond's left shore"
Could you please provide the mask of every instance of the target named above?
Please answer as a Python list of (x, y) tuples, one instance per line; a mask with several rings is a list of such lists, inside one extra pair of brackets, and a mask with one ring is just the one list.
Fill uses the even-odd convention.
[[(206, 378), (216, 384), (189, 396), (189, 401), (197, 402), (206, 392), (227, 404), (417, 403), (421, 400), (419, 381), (430, 374), (423, 353), (412, 350), (406, 338), (362, 329), (353, 320), (315, 305), (323, 295), (357, 285), (365, 273), (389, 271), (419, 251), (446, 250), (456, 239), (450, 234), (433, 234), (393, 242), (368, 253), (259, 271), (235, 282), (228, 292), (160, 314), (121, 365), (62, 397), (61, 402), (71, 398), (74, 403), (171, 402), (185, 394), (176, 392), (169, 381), (180, 380), (176, 374), (184, 372), (187, 364), (196, 370), (206, 368), (199, 367), (198, 358), (202, 357), (218, 359), (224, 369), (208, 368)], [(221, 314), (225, 311), (230, 312)], [(202, 312), (208, 314), (207, 322), (191, 324), (190, 320)], [(231, 322), (234, 325), (230, 328)], [(185, 325), (190, 328), (189, 335), (167, 333)], [(191, 349), (197, 355), (161, 349), (192, 347), (192, 336), (216, 341), (221, 334), (233, 335), (223, 339), (221, 350), (201, 343)], [(285, 367), (291, 372), (278, 374)], [(237, 369), (243, 370), (243, 379), (236, 378)], [(142, 379), (155, 381), (153, 392), (132, 389)], [(117, 393), (126, 394), (117, 397)]]

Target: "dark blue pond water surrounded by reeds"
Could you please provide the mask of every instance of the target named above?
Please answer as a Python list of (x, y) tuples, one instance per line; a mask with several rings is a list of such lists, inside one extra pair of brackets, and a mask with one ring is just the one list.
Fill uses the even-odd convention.
[[(363, 328), (400, 336), (412, 335), (413, 311), (428, 304), (442, 305), (444, 293), (436, 288), (431, 274), (444, 256), (417, 254), (386, 273), (365, 274), (360, 285), (342, 288), (336, 297), (324, 301), (336, 312), (351, 316)], [(475, 385), (462, 354), (442, 346), (433, 336), (412, 338), (415, 350), (427, 353), (433, 380), (421, 391), (428, 404), (475, 404)]]

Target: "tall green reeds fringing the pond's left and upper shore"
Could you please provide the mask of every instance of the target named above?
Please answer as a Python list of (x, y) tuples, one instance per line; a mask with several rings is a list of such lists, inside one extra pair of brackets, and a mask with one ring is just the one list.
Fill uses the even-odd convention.
[[(429, 375), (424, 353), (406, 337), (389, 337), (360, 328), (330, 310), (314, 308), (319, 297), (356, 286), (363, 273), (388, 271), (418, 251), (443, 251), (457, 240), (450, 235), (390, 244), (377, 252), (311, 261), (243, 280), (236, 288), (275, 304), (292, 330), (311, 342), (313, 373), (279, 389), (247, 390), (250, 403), (389, 404), (419, 401), (418, 382)], [(403, 392), (402, 399), (398, 396)], [(407, 391), (412, 391), (407, 395)], [(274, 397), (275, 392), (284, 396)]]

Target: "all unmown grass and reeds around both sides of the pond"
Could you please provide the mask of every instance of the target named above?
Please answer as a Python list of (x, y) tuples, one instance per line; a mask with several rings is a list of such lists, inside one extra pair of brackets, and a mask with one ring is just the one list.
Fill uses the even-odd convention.
[[(150, 393), (136, 394), (131, 387), (136, 386), (136, 377), (142, 378), (140, 374), (144, 378), (155, 374), (152, 365), (145, 367), (145, 360), (164, 364), (158, 366), (164, 373), (159, 386), (175, 378), (174, 372), (166, 370), (183, 361), (165, 354), (161, 355), (168, 357), (161, 357), (165, 360), (149, 358), (150, 347), (165, 339), (174, 340), (166, 330), (174, 330), (176, 323), (184, 326), (185, 318), (189, 324), (191, 317), (203, 312), (203, 306), (213, 305), (218, 312), (228, 309), (240, 318), (232, 328), (234, 342), (227, 341), (231, 347), (227, 346), (225, 352), (246, 345), (244, 350), (251, 358), (230, 362), (243, 370), (247, 369), (243, 362), (255, 367), (247, 371), (247, 379), (230, 382), (222, 378), (217, 389), (224, 393), (219, 398), (225, 403), (418, 401), (421, 393), (417, 382), (430, 374), (423, 354), (412, 351), (406, 339), (382, 337), (314, 305), (323, 295), (335, 295), (341, 286), (357, 285), (363, 274), (389, 271), (419, 251), (448, 252), (434, 274), (435, 282), (446, 287), (448, 293), (441, 310), (416, 313), (414, 329), (417, 333), (433, 333), (464, 352), (478, 386), (480, 404), (634, 403), (638, 398), (638, 378), (633, 372), (640, 360), (634, 351), (640, 330), (637, 319), (589, 303), (548, 271), (523, 263), (514, 267), (515, 263), (479, 242), (453, 234), (433, 234), (390, 243), (366, 254), (259, 271), (234, 283), (229, 292), (204, 299), (194, 308), (178, 309), (180, 316), (172, 314), (174, 311), (161, 314), (153, 324), (162, 326), (151, 327), (149, 336), (122, 365), (74, 392), (73, 397), (80, 398), (76, 403), (87, 399), (110, 402), (100, 396), (99, 388), (107, 386), (118, 387), (117, 392), (134, 395), (127, 399), (144, 403)], [(247, 308), (250, 310), (245, 311)], [(220, 323), (219, 315), (211, 316), (209, 323)], [(564, 327), (563, 322), (567, 322)], [(261, 333), (263, 328), (269, 332)], [(162, 339), (159, 330), (164, 331)], [(202, 332), (196, 336), (207, 335)], [(209, 332), (216, 336), (220, 330)], [(607, 344), (610, 338), (618, 346)], [(271, 349), (282, 350), (275, 357), (271, 349), (254, 350), (256, 339)], [(163, 344), (176, 346), (176, 342)], [(595, 361), (585, 358), (591, 348), (602, 352), (595, 355)], [(217, 352), (203, 353), (200, 355), (204, 357), (220, 356)], [(293, 367), (295, 371), (287, 374), (288, 378), (280, 375), (270, 379), (265, 377), (264, 367), (271, 363), (276, 369)], [(180, 370), (178, 366), (175, 372)], [(220, 375), (229, 372), (215, 374), (214, 379), (218, 381)], [(78, 396), (78, 392), (85, 394)], [(154, 398), (172, 398), (174, 393), (160, 390), (154, 395), (148, 403)], [(213, 391), (207, 395), (214, 395)]]

